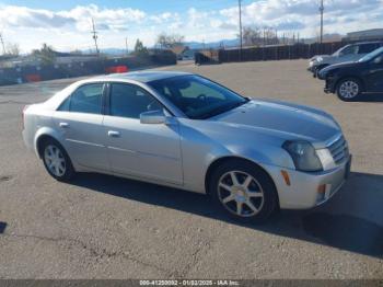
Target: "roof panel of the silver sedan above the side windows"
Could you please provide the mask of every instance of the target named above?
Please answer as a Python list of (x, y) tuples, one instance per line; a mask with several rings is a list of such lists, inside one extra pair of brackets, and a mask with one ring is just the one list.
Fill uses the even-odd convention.
[(90, 79), (92, 80), (104, 80), (104, 81), (113, 81), (113, 80), (132, 80), (137, 82), (151, 82), (155, 80), (167, 79), (177, 76), (192, 74), (189, 72), (182, 71), (134, 71), (134, 72), (124, 72), (124, 73), (112, 73), (107, 76), (98, 76)]

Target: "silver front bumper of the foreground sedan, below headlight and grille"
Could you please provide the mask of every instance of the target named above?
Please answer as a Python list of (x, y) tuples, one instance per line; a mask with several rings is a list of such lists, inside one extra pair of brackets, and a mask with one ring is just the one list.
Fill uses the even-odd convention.
[[(350, 172), (351, 156), (337, 168), (317, 173), (286, 170), (279, 167), (264, 168), (276, 184), (280, 208), (309, 209), (324, 204), (340, 190)], [(289, 174), (290, 185), (286, 183), (281, 174), (282, 170)], [(320, 188), (321, 186), (323, 188)]]

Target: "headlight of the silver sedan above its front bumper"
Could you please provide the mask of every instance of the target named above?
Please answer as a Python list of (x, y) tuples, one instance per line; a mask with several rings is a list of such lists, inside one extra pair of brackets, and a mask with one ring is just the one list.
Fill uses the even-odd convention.
[(306, 172), (323, 171), (321, 160), (309, 141), (288, 140), (282, 148), (290, 153), (297, 170)]

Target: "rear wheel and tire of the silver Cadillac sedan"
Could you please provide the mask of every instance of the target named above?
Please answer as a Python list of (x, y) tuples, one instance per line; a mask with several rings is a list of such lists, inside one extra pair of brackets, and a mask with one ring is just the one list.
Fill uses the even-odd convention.
[(57, 181), (68, 182), (76, 174), (67, 151), (55, 139), (44, 140), (42, 160), (47, 172)]

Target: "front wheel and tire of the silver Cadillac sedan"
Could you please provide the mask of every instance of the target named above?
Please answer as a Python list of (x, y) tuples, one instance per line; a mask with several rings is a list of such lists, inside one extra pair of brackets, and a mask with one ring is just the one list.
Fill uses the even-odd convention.
[(242, 160), (228, 161), (213, 171), (209, 194), (229, 216), (244, 222), (264, 222), (279, 207), (270, 176), (256, 164)]

